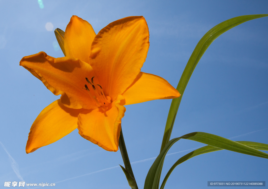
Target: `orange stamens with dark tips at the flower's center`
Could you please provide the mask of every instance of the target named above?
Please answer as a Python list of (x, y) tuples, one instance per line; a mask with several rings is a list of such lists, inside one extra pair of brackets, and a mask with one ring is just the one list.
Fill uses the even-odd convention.
[(87, 78), (85, 78), (85, 80), (87, 80), (87, 82), (90, 84), (91, 89), (88, 88), (87, 84), (85, 84), (85, 88), (83, 89), (88, 91), (90, 97), (98, 107), (101, 107), (103, 105), (108, 106), (108, 104), (111, 103), (111, 97), (104, 95), (102, 87), (99, 84), (94, 83), (93, 81), (94, 77), (95, 76), (91, 78), (91, 82)]

